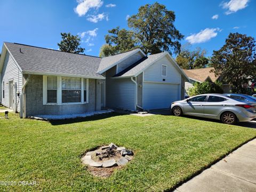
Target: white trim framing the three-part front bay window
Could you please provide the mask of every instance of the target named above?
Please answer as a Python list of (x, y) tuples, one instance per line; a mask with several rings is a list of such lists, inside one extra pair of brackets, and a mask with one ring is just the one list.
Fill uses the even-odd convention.
[[(57, 76), (57, 103), (47, 103), (47, 77), (43, 76), (43, 105), (82, 105), (89, 103), (89, 78), (81, 78), (81, 102), (62, 103), (61, 77)], [(84, 79), (86, 79), (86, 102), (84, 102)]]

